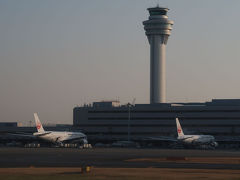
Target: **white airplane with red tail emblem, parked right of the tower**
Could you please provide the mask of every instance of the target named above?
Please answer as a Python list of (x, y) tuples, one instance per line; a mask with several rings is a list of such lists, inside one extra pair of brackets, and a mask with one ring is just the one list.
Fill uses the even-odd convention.
[(211, 135), (184, 135), (178, 118), (176, 118), (176, 125), (178, 133), (177, 139), (184, 145), (204, 148), (215, 148), (218, 146), (215, 138)]

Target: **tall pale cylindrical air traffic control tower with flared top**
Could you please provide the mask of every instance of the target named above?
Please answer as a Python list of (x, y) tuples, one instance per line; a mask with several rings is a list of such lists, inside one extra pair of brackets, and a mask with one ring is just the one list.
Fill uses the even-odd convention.
[(167, 17), (168, 8), (148, 8), (149, 19), (143, 22), (150, 44), (150, 103), (166, 103), (165, 49), (173, 21)]

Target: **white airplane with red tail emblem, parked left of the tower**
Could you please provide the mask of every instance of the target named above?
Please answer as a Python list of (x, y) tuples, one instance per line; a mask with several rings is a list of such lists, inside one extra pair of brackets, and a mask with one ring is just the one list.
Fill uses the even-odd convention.
[(88, 143), (87, 136), (80, 132), (45, 131), (37, 113), (34, 113), (34, 118), (38, 132), (33, 133), (33, 135), (40, 139), (60, 145), (70, 142), (80, 144)]

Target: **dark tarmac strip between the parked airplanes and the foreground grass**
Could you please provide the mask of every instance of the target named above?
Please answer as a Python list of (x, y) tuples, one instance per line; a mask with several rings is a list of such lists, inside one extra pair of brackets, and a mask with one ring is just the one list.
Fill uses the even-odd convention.
[(239, 151), (129, 148), (0, 148), (0, 167), (240, 169)]

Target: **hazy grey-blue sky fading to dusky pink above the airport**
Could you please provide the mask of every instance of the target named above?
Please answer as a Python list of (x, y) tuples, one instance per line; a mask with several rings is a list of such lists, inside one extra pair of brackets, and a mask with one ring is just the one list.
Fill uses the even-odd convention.
[(240, 98), (239, 0), (0, 0), (0, 121), (72, 123), (72, 109), (149, 102), (146, 8), (170, 9), (167, 101)]

